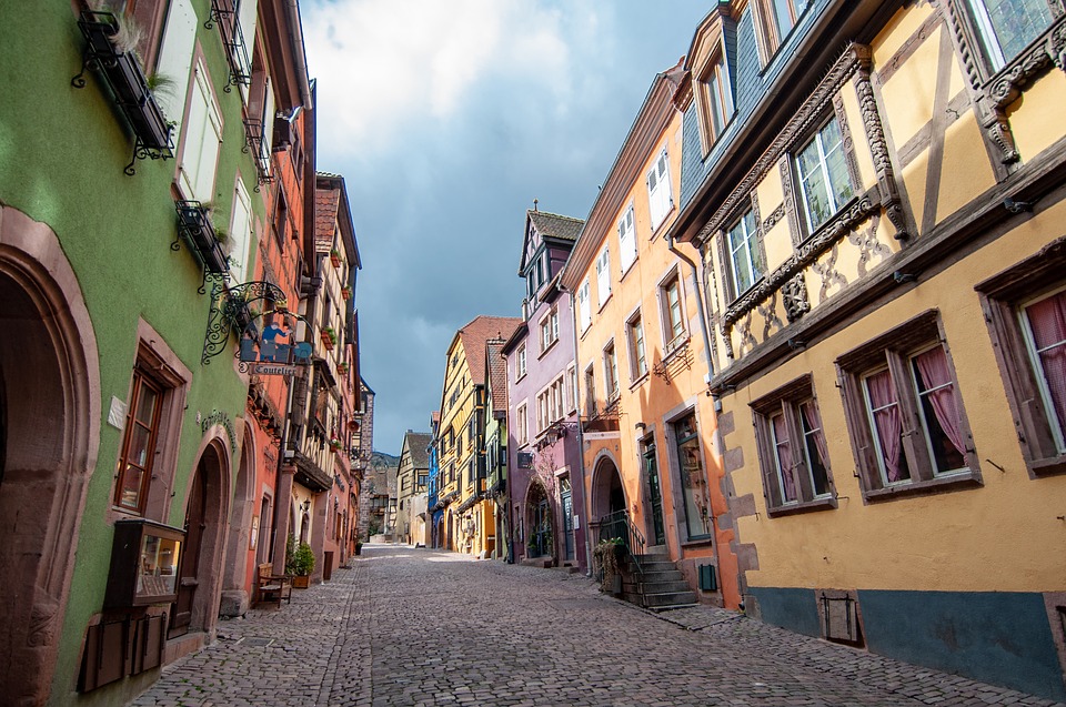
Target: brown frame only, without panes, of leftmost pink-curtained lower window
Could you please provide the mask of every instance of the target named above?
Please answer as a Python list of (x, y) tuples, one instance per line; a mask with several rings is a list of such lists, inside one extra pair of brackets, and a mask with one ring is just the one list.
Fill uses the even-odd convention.
[[(807, 434), (803, 425), (802, 406), (813, 404), (818, 411), (821, 417), (821, 406), (814, 391), (813, 378), (809, 374), (792, 381), (780, 388), (764, 395), (757, 401), (751, 403), (752, 415), (755, 423), (756, 448), (758, 453), (760, 471), (763, 482), (763, 497), (766, 499), (766, 513), (771, 517), (790, 515), (794, 513), (806, 513), (827, 511), (837, 507), (836, 485), (833, 481), (833, 467), (831, 459), (822, 459), (822, 466), (825, 469), (827, 491), (823, 494), (816, 493), (814, 469), (811, 464), (811, 450), (807, 444)], [(790, 443), (792, 451), (801, 448), (803, 454), (801, 458), (794, 458), (792, 468), (788, 472), (792, 476), (794, 488), (796, 489), (796, 499), (788, 501), (784, 493), (785, 469), (781, 468), (780, 455), (776, 452), (777, 435), (773, 421), (782, 416), (790, 433)], [(825, 442), (825, 422), (822, 422), (822, 435)], [(796, 442), (802, 441), (801, 446)]]

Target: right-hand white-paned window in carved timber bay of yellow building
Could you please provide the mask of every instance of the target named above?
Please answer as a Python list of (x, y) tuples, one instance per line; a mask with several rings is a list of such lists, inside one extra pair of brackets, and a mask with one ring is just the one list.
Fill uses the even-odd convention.
[(796, 178), (807, 233), (814, 233), (854, 194), (835, 117), (797, 152)]

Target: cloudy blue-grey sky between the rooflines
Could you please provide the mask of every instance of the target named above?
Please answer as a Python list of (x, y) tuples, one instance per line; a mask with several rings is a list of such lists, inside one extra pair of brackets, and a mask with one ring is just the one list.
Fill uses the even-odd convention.
[(318, 170), (345, 179), (374, 450), (440, 408), (447, 346), (520, 316), (525, 212), (584, 219), (700, 0), (303, 0)]

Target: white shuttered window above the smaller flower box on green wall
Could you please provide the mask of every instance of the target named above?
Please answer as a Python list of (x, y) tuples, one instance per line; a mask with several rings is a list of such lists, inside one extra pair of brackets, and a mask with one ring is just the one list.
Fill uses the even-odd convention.
[(203, 64), (193, 72), (192, 98), (181, 149), (180, 184), (187, 199), (213, 201), (214, 172), (222, 144), (222, 114)]

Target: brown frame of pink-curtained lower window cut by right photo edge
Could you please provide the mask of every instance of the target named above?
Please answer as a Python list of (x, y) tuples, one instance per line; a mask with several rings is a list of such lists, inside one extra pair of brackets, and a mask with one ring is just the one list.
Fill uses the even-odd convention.
[[(1066, 474), (1066, 452), (1059, 451), (1049, 411), (1039, 394), (1039, 381), (1026, 345), (1022, 309), (1066, 287), (1066, 236), (1037, 254), (978, 283), (977, 291), (996, 364), (1017, 431), (1018, 446), (1029, 478)], [(1062, 422), (1066, 437), (1066, 421)]]

